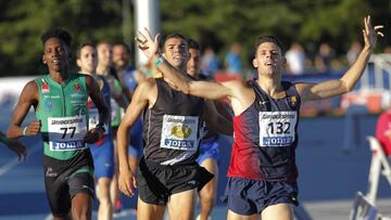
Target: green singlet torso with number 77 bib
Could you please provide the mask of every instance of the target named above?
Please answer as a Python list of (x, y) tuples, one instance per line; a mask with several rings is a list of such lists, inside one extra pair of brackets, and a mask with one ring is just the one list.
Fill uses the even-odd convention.
[(86, 79), (72, 74), (60, 85), (49, 75), (35, 79), (39, 90), (37, 120), (41, 121), (43, 153), (60, 160), (70, 159), (86, 148), (88, 108)]

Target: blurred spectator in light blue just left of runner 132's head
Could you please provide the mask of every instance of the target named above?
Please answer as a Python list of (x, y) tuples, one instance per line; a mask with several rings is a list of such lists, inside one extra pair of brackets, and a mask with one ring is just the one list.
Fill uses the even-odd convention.
[(228, 74), (242, 74), (243, 67), (240, 59), (241, 44), (236, 42), (225, 56), (225, 67)]

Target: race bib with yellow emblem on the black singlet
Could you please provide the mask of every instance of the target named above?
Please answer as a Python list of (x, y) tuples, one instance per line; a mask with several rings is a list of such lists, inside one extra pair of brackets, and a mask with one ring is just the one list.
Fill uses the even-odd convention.
[(182, 151), (197, 151), (199, 117), (164, 115), (161, 147)]

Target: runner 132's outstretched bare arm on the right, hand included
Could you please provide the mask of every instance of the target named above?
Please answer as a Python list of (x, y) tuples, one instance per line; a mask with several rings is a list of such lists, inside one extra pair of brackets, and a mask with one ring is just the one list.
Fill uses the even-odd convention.
[(383, 26), (373, 27), (370, 16), (364, 17), (364, 26), (363, 37), (365, 46), (354, 64), (340, 79), (327, 80), (320, 83), (298, 83), (297, 89), (303, 101), (327, 99), (352, 91), (368, 64), (370, 54), (376, 46), (377, 36), (383, 37), (383, 34), (380, 31)]

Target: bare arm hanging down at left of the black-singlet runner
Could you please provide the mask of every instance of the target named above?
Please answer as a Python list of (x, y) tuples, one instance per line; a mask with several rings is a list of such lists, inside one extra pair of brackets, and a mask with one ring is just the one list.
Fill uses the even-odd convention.
[(154, 83), (151, 81), (142, 82), (136, 88), (131, 102), (127, 107), (125, 116), (123, 117), (117, 130), (117, 151), (119, 163), (118, 185), (119, 190), (127, 196), (131, 196), (134, 194), (134, 187), (136, 187), (136, 181), (134, 179), (135, 170), (130, 169), (128, 160), (128, 145), (130, 142), (128, 135), (129, 129), (141, 115), (142, 111), (148, 106), (149, 96), (154, 89)]

